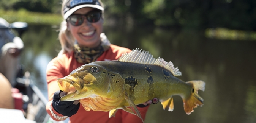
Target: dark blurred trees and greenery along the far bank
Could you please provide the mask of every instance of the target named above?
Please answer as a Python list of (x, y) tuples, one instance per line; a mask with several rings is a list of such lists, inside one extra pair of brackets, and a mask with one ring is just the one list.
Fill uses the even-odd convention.
[[(102, 0), (113, 26), (256, 30), (255, 0)], [(1, 0), (0, 10), (60, 14), (61, 0)]]

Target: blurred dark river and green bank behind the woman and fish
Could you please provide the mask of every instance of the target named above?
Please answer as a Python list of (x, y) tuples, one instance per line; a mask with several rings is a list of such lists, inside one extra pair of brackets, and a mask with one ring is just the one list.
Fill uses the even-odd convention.
[[(150, 106), (144, 123), (256, 122), (256, 0), (102, 0), (112, 44), (141, 48), (202, 80), (204, 106), (190, 115)], [(46, 66), (60, 51), (60, 0), (1, 0), (0, 17), (28, 23), (21, 64), (47, 98)], [(15, 31), (14, 31), (15, 33)]]

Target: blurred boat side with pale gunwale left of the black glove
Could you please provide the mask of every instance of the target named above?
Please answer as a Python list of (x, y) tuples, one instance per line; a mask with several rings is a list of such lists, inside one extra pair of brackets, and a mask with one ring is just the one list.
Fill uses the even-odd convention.
[(48, 100), (30, 79), (30, 72), (25, 72), (22, 78), (17, 77), (16, 81), (16, 87), (23, 93), (23, 110), (26, 119), (36, 121), (36, 123), (65, 123), (53, 120), (46, 112)]

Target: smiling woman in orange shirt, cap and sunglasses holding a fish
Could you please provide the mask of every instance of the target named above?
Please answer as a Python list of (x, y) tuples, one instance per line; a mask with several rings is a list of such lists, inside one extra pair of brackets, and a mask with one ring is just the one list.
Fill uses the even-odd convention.
[[(81, 65), (102, 60), (116, 60), (131, 50), (110, 44), (102, 33), (103, 4), (98, 0), (63, 0), (62, 22), (59, 39), (62, 50), (58, 57), (47, 66), (47, 87), (49, 102), (46, 110), (54, 120), (70, 117), (70, 123), (141, 123), (136, 115), (118, 110), (115, 117), (109, 118), (109, 112), (85, 111), (79, 101), (60, 101), (66, 92), (60, 91), (57, 79), (69, 75)], [(142, 118), (145, 118), (147, 104), (157, 103), (154, 98), (138, 105)]]

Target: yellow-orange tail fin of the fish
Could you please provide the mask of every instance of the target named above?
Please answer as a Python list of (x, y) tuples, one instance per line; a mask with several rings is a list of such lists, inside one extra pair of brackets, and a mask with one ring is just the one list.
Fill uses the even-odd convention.
[(198, 90), (204, 91), (205, 89), (205, 82), (204, 81), (188, 81), (186, 82), (188, 84), (191, 84), (192, 90), (191, 95), (189, 98), (184, 99), (184, 110), (186, 114), (191, 114), (193, 112), (193, 108), (196, 108), (197, 106), (202, 106), (204, 103), (204, 99), (198, 95)]

